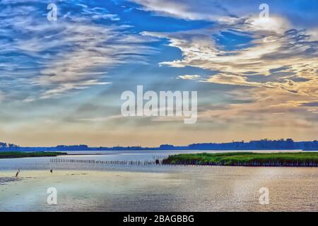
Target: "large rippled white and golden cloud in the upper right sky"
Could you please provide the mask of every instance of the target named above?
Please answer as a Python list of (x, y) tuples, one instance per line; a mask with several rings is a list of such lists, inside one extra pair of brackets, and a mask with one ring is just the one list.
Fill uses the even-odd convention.
[[(277, 23), (283, 20), (277, 20)], [(214, 25), (211, 28), (182, 32), (144, 32), (147, 35), (166, 38), (170, 47), (182, 51), (182, 59), (164, 61), (165, 66), (193, 66), (218, 71), (207, 82), (228, 85), (249, 85), (277, 88), (302, 95), (316, 95), (317, 90), (317, 42), (309, 40), (304, 30), (266, 30), (255, 26), (253, 20), (236, 25)], [(226, 49), (216, 38), (223, 34), (247, 36), (252, 39), (245, 46)], [(218, 35), (218, 36), (215, 36)], [(224, 36), (224, 35), (223, 35)], [(254, 76), (271, 76), (284, 68), (293, 80), (274, 79), (266, 83), (253, 81)], [(297, 78), (302, 80), (297, 81)]]

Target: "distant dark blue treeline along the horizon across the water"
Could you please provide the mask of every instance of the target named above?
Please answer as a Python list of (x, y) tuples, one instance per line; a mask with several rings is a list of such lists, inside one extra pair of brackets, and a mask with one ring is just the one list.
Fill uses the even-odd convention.
[(61, 150), (318, 150), (318, 141), (299, 141), (293, 139), (261, 141), (233, 141), (230, 143), (193, 143), (187, 146), (160, 145), (156, 148), (141, 146), (128, 147), (88, 147), (88, 145), (57, 145), (56, 147), (19, 147), (14, 144), (0, 143), (0, 150), (20, 151), (61, 151)]

